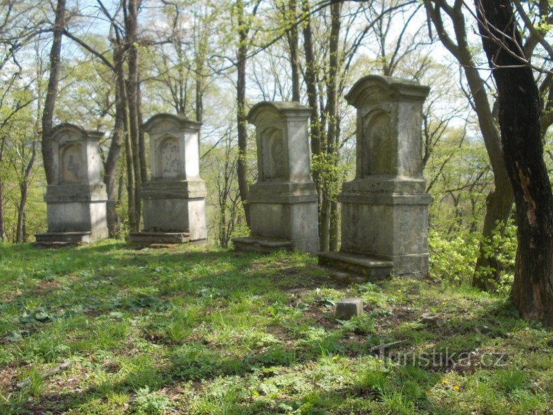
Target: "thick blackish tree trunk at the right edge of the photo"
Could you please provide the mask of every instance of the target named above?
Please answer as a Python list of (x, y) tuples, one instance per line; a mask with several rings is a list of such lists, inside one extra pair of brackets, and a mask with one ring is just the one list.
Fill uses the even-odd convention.
[(538, 88), (532, 69), (516, 57), (522, 44), (510, 1), (475, 3), (498, 88), (503, 156), (516, 205), (518, 250), (511, 300), (521, 317), (553, 326), (553, 194), (543, 161)]

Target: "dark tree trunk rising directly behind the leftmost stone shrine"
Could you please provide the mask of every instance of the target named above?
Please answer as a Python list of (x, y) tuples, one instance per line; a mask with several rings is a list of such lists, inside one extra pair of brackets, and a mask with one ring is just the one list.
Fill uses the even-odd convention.
[(50, 79), (42, 112), (42, 158), (44, 160), (44, 172), (46, 182), (50, 185), (54, 182), (54, 155), (50, 132), (53, 128), (54, 109), (59, 83), (59, 60), (62, 54), (62, 32), (65, 26), (65, 0), (57, 0), (56, 18), (54, 23), (54, 36), (50, 49)]

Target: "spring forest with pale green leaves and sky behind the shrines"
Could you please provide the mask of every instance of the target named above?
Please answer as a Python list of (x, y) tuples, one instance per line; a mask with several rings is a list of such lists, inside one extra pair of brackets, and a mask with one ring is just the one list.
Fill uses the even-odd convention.
[[(547, 1), (512, 3), (542, 97), (551, 172), (552, 75), (543, 67), (552, 52), (547, 36), (553, 13)], [(433, 275), (509, 290), (514, 199), (501, 157), (496, 88), (470, 5), (403, 0), (1, 5), (1, 241), (29, 242), (46, 230), (48, 131), (60, 122), (105, 131), (100, 145), (111, 237), (140, 229), (140, 187), (149, 177), (141, 125), (168, 112), (203, 123), (200, 167), (208, 188), (209, 243), (226, 248), (231, 237), (248, 232), (247, 185), (256, 181), (254, 135), (245, 115), (261, 100), (297, 100), (312, 109), (321, 250), (337, 250), (336, 196), (355, 170), (355, 111), (344, 94), (360, 77), (378, 74), (431, 86), (422, 114), (422, 161), (433, 196)]]

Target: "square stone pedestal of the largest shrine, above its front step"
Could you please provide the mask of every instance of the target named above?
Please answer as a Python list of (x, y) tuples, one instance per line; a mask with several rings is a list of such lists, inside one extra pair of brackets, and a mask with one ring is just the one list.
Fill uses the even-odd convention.
[[(380, 192), (368, 187), (373, 183), (364, 180), (344, 183), (338, 196), (341, 252), (391, 261), (396, 276), (426, 277), (430, 195), (406, 192), (409, 188), (420, 190), (418, 181), (388, 181), (384, 185), (381, 182)], [(396, 192), (388, 193), (391, 190), (388, 186), (395, 187)], [(363, 188), (373, 192), (362, 192)]]

